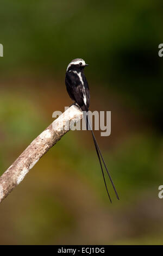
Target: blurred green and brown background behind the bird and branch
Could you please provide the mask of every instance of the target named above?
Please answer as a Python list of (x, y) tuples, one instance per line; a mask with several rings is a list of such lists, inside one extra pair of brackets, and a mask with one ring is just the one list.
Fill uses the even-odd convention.
[[(83, 58), (96, 136), (116, 184), (109, 203), (92, 138), (68, 132), (0, 205), (0, 244), (162, 244), (162, 1), (0, 2), (0, 174), (71, 105), (67, 64)], [(109, 182), (109, 180), (108, 180)]]

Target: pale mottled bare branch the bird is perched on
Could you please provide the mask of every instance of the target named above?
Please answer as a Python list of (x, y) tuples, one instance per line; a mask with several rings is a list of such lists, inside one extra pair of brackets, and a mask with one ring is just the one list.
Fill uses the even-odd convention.
[(0, 203), (14, 187), (20, 184), (40, 158), (65, 135), (68, 131), (65, 130), (66, 125), (69, 126), (82, 118), (82, 110), (72, 105), (30, 143), (28, 148), (0, 177)]

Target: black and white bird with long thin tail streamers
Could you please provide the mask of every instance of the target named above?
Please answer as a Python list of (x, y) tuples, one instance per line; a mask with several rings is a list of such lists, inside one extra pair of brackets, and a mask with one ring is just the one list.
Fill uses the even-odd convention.
[[(65, 76), (65, 84), (66, 84), (67, 93), (70, 96), (70, 98), (74, 101), (73, 104), (80, 107), (82, 109), (83, 113), (88, 113), (89, 106), (90, 106), (90, 89), (89, 89), (89, 84), (88, 84), (85, 74), (84, 74), (84, 68), (86, 66), (89, 66), (89, 65), (85, 63), (84, 59), (81, 59), (81, 58), (73, 59), (67, 66), (66, 76)], [(104, 164), (106, 173), (108, 174), (109, 179), (111, 181), (111, 185), (114, 188), (116, 197), (117, 197), (117, 199), (120, 199), (118, 196), (118, 193), (116, 191), (114, 182), (112, 181), (111, 175), (108, 171), (108, 168), (106, 167), (104, 158), (102, 156), (101, 150), (99, 149), (95, 135), (92, 131), (89, 115), (86, 114), (86, 115), (84, 115), (84, 117), (85, 117), (85, 121), (86, 121), (86, 129), (91, 130), (91, 133), (92, 133), (93, 143), (95, 144), (95, 149), (96, 149), (96, 153), (98, 156), (99, 164), (101, 166), (106, 192), (108, 193), (110, 202), (112, 202), (112, 201), (111, 201), (111, 197), (110, 197), (110, 194), (108, 191), (108, 187), (106, 185), (102, 162)]]

